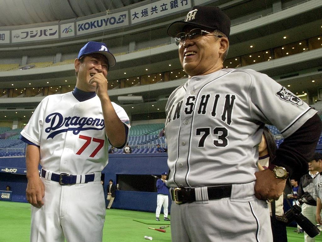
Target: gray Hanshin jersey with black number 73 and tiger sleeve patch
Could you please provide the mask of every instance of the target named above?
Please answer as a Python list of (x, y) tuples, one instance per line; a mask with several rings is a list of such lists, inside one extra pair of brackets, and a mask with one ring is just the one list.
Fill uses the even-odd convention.
[(316, 112), (254, 70), (194, 76), (175, 89), (166, 105), (167, 185), (253, 182), (264, 123), (287, 138)]

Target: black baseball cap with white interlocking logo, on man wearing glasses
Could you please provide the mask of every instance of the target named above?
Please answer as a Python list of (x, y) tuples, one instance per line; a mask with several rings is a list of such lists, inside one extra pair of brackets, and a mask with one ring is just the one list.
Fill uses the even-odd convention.
[(194, 6), (185, 18), (185, 21), (175, 21), (168, 27), (168, 35), (175, 37), (183, 32), (186, 25), (196, 28), (219, 30), (229, 38), (230, 18), (219, 7)]

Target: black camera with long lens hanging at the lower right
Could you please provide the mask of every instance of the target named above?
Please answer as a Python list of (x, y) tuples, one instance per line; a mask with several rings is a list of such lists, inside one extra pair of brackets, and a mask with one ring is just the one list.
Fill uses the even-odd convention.
[(291, 209), (284, 213), (284, 218), (286, 218), (289, 222), (295, 220), (298, 225), (308, 234), (309, 237), (313, 238), (317, 236), (320, 230), (316, 225), (311, 223), (308, 218), (304, 217), (301, 214), (302, 209), (298, 205), (293, 205)]

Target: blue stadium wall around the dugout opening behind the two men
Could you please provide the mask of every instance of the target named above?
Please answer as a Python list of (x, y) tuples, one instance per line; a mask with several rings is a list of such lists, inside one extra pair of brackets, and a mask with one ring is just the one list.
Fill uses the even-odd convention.
[[(25, 169), (24, 157), (0, 158), (0, 190), (5, 190), (6, 186), (9, 185), (13, 192), (12, 201), (14, 202), (27, 202), (25, 198), (27, 188)], [(109, 164), (102, 171), (102, 174), (104, 174), (105, 198), (107, 197), (106, 190), (109, 180), (112, 179), (115, 184), (117, 175), (160, 176), (162, 172), (167, 172), (168, 169), (167, 153), (109, 154)], [(149, 192), (116, 191), (112, 208), (155, 211), (156, 196), (156, 193)], [(105, 201), (107, 206), (108, 201)], [(171, 200), (169, 197), (169, 211), (170, 208)]]

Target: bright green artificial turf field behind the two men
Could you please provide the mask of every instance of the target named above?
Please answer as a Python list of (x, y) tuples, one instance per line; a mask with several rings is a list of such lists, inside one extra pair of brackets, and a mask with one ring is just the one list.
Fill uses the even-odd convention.
[[(28, 203), (0, 201), (0, 211), (0, 241), (29, 241), (30, 205)], [(148, 227), (158, 228), (166, 224), (169, 224), (169, 222), (161, 220), (160, 225), (157, 225), (154, 213), (109, 209), (106, 210), (103, 241), (149, 241), (144, 239), (144, 236), (151, 236), (153, 241), (170, 242), (171, 226), (166, 228), (166, 233), (148, 229)], [(293, 232), (295, 229), (293, 227), (287, 228), (288, 241), (303, 242), (304, 235)], [(315, 241), (322, 242), (322, 235), (317, 236)]]

